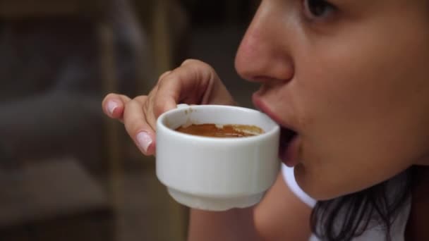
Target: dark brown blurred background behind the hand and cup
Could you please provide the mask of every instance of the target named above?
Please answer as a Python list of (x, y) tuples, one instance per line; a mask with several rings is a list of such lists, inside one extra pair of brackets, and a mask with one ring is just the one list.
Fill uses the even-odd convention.
[(188, 210), (101, 101), (198, 58), (252, 107), (234, 56), (257, 5), (0, 0), (0, 240), (185, 240)]

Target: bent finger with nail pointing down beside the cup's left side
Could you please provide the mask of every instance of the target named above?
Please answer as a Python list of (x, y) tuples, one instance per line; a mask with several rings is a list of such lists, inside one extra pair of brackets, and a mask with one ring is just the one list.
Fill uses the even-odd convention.
[(146, 113), (142, 108), (142, 102), (146, 98), (142, 96), (138, 100), (128, 101), (123, 112), (123, 123), (140, 152), (148, 156), (155, 154), (155, 130), (147, 123)]

